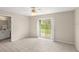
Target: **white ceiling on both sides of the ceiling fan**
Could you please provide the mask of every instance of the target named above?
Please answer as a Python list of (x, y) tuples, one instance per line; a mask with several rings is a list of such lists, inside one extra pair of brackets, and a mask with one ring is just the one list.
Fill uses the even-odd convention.
[[(36, 7), (37, 15), (70, 11), (74, 9), (76, 8), (75, 7)], [(31, 7), (0, 7), (0, 10), (26, 15), (26, 16), (32, 15)]]

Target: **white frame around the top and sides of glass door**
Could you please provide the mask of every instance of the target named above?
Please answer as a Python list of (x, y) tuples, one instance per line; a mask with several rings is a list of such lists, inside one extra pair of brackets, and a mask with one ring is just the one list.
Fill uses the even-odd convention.
[(53, 35), (51, 34), (51, 39), (55, 40), (55, 19), (53, 17), (48, 17), (48, 18), (40, 17), (40, 18), (37, 19), (37, 36), (38, 36), (38, 38), (40, 38), (39, 20), (41, 20), (41, 19), (43, 19), (43, 20), (50, 19), (50, 21), (51, 21), (51, 32), (53, 34)]

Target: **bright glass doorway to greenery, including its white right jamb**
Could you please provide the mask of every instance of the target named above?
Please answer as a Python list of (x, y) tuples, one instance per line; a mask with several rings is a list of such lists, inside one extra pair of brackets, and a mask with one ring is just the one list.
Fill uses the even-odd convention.
[(39, 20), (39, 37), (45, 39), (54, 39), (54, 21), (51, 19)]

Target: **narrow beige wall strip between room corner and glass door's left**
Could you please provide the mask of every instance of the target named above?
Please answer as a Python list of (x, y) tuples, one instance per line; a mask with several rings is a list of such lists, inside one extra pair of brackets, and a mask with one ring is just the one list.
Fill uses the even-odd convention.
[(37, 19), (36, 17), (29, 17), (29, 36), (37, 37)]

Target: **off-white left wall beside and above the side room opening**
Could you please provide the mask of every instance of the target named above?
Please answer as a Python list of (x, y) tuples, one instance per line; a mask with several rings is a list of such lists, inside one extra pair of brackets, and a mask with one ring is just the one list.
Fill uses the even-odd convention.
[(11, 16), (11, 41), (28, 37), (28, 17), (6, 11), (0, 11), (0, 15)]

